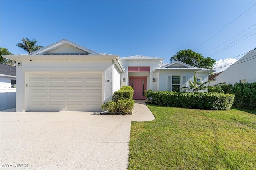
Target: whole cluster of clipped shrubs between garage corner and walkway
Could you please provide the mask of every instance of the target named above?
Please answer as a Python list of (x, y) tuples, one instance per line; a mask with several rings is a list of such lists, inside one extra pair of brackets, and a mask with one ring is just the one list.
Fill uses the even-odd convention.
[(132, 114), (134, 106), (133, 88), (122, 86), (120, 90), (114, 92), (112, 101), (102, 104), (101, 109), (108, 111), (110, 114)]

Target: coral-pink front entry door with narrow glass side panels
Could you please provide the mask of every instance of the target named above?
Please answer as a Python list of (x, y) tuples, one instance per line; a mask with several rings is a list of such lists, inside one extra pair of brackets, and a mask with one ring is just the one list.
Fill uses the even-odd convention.
[(147, 77), (129, 77), (129, 86), (134, 89), (133, 99), (146, 100)]

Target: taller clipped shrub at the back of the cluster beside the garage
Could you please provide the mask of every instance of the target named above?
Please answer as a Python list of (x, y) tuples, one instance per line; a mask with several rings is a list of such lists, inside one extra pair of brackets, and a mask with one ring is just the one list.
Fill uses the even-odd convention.
[(122, 86), (118, 91), (114, 92), (112, 96), (114, 102), (122, 99), (133, 99), (133, 88), (131, 86)]

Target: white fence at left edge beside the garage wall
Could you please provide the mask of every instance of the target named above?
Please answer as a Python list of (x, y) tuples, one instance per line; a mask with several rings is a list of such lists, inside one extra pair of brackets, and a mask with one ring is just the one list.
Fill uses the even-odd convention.
[(16, 88), (0, 88), (0, 110), (15, 108)]

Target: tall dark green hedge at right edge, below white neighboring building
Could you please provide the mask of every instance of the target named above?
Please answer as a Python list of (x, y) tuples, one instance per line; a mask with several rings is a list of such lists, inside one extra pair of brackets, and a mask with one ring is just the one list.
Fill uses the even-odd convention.
[(256, 82), (225, 84), (221, 88), (224, 93), (235, 95), (233, 107), (256, 110)]

